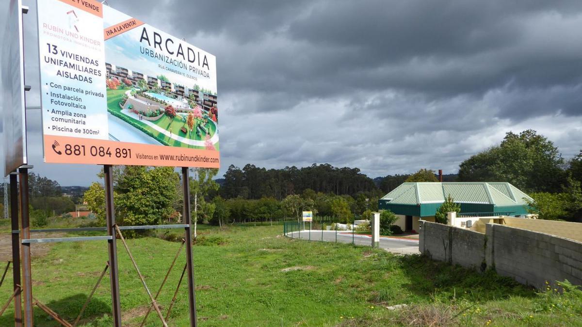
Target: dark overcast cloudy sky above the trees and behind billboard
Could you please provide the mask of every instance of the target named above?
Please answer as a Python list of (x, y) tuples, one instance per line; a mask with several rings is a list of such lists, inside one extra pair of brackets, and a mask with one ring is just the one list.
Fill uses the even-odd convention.
[[(36, 6), (23, 2), (34, 108)], [(217, 56), (220, 175), (249, 162), (456, 173), (524, 129), (565, 158), (582, 148), (580, 0), (108, 3)], [(99, 166), (42, 163), (38, 109), (27, 123), (36, 172), (63, 186), (97, 180)]]

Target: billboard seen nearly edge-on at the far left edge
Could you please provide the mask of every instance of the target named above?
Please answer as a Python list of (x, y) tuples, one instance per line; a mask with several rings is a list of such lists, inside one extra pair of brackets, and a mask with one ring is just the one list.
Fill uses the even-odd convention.
[(26, 114), (24, 112), (24, 57), (22, 41), (22, 3), (10, 0), (8, 6), (2, 47), (2, 131), (4, 175), (13, 172), (27, 162)]

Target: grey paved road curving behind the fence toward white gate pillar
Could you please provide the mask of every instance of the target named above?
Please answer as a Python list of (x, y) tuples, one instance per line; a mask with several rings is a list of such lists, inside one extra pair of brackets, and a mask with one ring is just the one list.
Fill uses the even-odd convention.
[[(335, 242), (337, 240), (340, 243), (352, 243), (352, 233), (349, 232), (336, 232), (335, 230), (301, 230), (300, 232), (287, 233), (287, 236), (294, 237), (297, 239), (309, 240), (311, 237), (312, 241), (321, 241), (322, 238), (326, 242)], [(372, 239), (370, 236), (354, 234), (353, 243), (357, 245), (370, 246)], [(386, 251), (398, 254), (414, 254), (418, 253), (418, 241), (417, 240), (404, 240), (392, 237), (380, 237), (380, 248)]]

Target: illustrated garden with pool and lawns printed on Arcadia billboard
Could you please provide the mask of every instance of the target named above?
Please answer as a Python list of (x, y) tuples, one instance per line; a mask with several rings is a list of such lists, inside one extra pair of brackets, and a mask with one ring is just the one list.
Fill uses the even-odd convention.
[(147, 90), (108, 80), (107, 108), (158, 143), (219, 150), (217, 108), (206, 111), (188, 98), (176, 99), (157, 88)]

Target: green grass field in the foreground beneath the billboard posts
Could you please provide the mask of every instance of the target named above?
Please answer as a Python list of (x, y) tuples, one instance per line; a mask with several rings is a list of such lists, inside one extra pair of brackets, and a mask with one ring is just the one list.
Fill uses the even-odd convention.
[[(279, 235), (281, 225), (199, 230), (194, 262), (203, 326), (582, 325), (582, 296), (576, 292), (538, 295), (494, 272), (478, 274), (368, 247), (292, 240)], [(155, 294), (179, 243), (157, 237), (128, 243)], [(118, 253), (124, 325), (139, 325), (148, 298), (120, 242)], [(56, 243), (33, 260), (34, 297), (72, 322), (106, 261), (104, 241)], [(168, 308), (183, 264), (182, 255), (159, 297), (162, 310)], [(2, 301), (11, 284), (7, 276)], [(385, 308), (395, 304), (408, 306)], [(110, 307), (106, 277), (82, 322), (111, 325)], [(56, 325), (41, 311), (35, 314), (38, 325)], [(0, 325), (10, 325), (12, 315), (11, 307)], [(183, 285), (169, 325), (186, 326), (188, 319)], [(148, 326), (158, 325), (152, 312)]]

